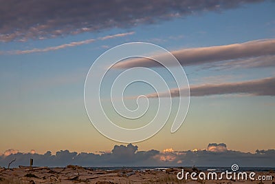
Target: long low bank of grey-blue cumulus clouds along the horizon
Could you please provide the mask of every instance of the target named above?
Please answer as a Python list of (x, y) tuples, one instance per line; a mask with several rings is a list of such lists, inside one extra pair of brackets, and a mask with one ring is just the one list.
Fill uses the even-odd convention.
[(35, 152), (22, 153), (8, 150), (0, 156), (0, 166), (7, 167), (10, 161), (17, 159), (11, 167), (29, 165), (30, 158), (34, 166), (64, 167), (65, 165), (82, 166), (228, 166), (238, 163), (247, 167), (275, 167), (275, 150), (256, 150), (244, 153), (228, 150), (224, 143), (210, 143), (208, 150), (187, 150), (159, 152), (157, 150), (138, 151), (136, 145), (115, 145), (110, 153), (77, 153), (61, 150), (52, 154)]

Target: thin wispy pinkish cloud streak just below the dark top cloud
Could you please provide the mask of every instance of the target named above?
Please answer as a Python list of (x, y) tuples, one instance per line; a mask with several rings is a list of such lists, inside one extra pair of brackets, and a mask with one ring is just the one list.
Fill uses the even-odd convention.
[(98, 40), (126, 37), (126, 36), (134, 34), (134, 33), (135, 32), (125, 32), (125, 33), (120, 33), (120, 34), (108, 35), (106, 37), (99, 37), (98, 39), (87, 39), (84, 41), (74, 41), (71, 43), (65, 43), (63, 45), (58, 45), (58, 46), (53, 46), (53, 47), (48, 47), (48, 48), (34, 48), (32, 50), (13, 50), (13, 51), (7, 51), (7, 52), (2, 52), (2, 53), (0, 52), (0, 54), (30, 54), (30, 53), (34, 53), (34, 52), (49, 52), (49, 51), (53, 51), (53, 50), (59, 50), (59, 49), (63, 49), (63, 48), (84, 45), (84, 44), (92, 43), (92, 42), (98, 41)]

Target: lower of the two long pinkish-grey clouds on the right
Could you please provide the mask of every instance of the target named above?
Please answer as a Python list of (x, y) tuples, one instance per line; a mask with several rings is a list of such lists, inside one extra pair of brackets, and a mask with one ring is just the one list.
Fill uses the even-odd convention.
[[(241, 81), (234, 83), (190, 85), (190, 96), (210, 96), (217, 94), (250, 94), (254, 96), (275, 96), (275, 77), (258, 79), (253, 81)], [(148, 98), (179, 96), (186, 94), (186, 89), (171, 89), (169, 92), (147, 94)]]

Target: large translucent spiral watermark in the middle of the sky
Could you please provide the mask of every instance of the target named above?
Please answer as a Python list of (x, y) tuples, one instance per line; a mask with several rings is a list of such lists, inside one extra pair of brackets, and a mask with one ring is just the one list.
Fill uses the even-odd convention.
[[(134, 83), (137, 88), (128, 90)], [(146, 94), (145, 87), (153, 93)], [(171, 88), (179, 93), (176, 98)], [(127, 96), (127, 91), (135, 95)], [(133, 99), (135, 104), (129, 106)], [(155, 135), (168, 121), (173, 123), (170, 131), (176, 132), (188, 112), (190, 89), (173, 54), (152, 43), (125, 43), (104, 52), (91, 65), (84, 101), (98, 132), (114, 141), (135, 143)], [(144, 123), (140, 127), (120, 124), (139, 119)]]

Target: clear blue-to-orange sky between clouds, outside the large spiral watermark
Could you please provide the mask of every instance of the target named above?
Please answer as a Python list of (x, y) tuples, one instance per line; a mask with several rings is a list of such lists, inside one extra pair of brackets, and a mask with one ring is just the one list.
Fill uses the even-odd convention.
[[(3, 14), (8, 18), (0, 27), (0, 32), (3, 32), (0, 37), (0, 139), (5, 140), (1, 143), (0, 152), (10, 148), (23, 152), (34, 149), (41, 153), (61, 149), (76, 152), (110, 149), (116, 142), (98, 133), (85, 112), (83, 89), (91, 64), (109, 48), (133, 41), (154, 43), (170, 52), (259, 39), (274, 41), (274, 2), (239, 2), (232, 7), (228, 5), (230, 8), (223, 8), (223, 1), (217, 1), (217, 10), (214, 11), (207, 7), (208, 3), (205, 4), (206, 8), (197, 5), (193, 12), (181, 12), (180, 8), (177, 10), (173, 6), (173, 11), (169, 13), (175, 14), (164, 18), (159, 18), (159, 12), (152, 10), (144, 13), (144, 19), (149, 19), (148, 22), (135, 19), (137, 15), (133, 13), (132, 20), (125, 18), (122, 25), (120, 22), (107, 25), (104, 23), (106, 17), (100, 17), (100, 13), (107, 11), (109, 16), (113, 15), (113, 19), (117, 14), (127, 17), (123, 7), (129, 5), (125, 3), (121, 11), (111, 14), (110, 8), (104, 8), (108, 5), (103, 4), (100, 6), (102, 9), (96, 10), (98, 22), (91, 20), (90, 26), (94, 28), (94, 25), (94, 30), (80, 33), (72, 33), (81, 28), (73, 16), (67, 19), (62, 14), (61, 17), (52, 17), (50, 10), (44, 8), (41, 8), (41, 12), (45, 14), (39, 15), (45, 17), (46, 21), (44, 18), (33, 18), (32, 21), (32, 18), (23, 16), (22, 24), (29, 20), (30, 25), (28, 21), (25, 25), (18, 24), (15, 19), (19, 19), (21, 12), (14, 10), (8, 13), (9, 6), (14, 5), (7, 3), (4, 7), (7, 11), (3, 11)], [(63, 6), (65, 11), (69, 7)], [(24, 8), (22, 12), (28, 11)], [(140, 9), (142, 12), (143, 7)], [(87, 14), (87, 17), (96, 16), (96, 11), (89, 14), (84, 9), (83, 14)], [(10, 14), (15, 18), (10, 18)], [(36, 12), (33, 14), (35, 17)], [(89, 21), (79, 14), (84, 24)], [(51, 24), (50, 21), (57, 23)], [(48, 23), (49, 28), (39, 30), (39, 25), (43, 23)], [(57, 31), (61, 34), (57, 34)], [(5, 39), (7, 37), (2, 37), (5, 34), (16, 36)], [(94, 41), (87, 41), (90, 39)], [(86, 43), (72, 43), (79, 41)], [(70, 46), (64, 45), (69, 43)], [(58, 45), (61, 47), (52, 48)], [(30, 53), (23, 53), (24, 50)], [(250, 61), (228, 67), (221, 61), (219, 64), (223, 65), (220, 66), (217, 63), (205, 63), (184, 66), (184, 70), (190, 85), (259, 80), (274, 77), (274, 54), (272, 51), (261, 56), (271, 57), (270, 63), (273, 65), (268, 67), (250, 67)], [(137, 92), (142, 90), (133, 90), (133, 94)], [(274, 105), (273, 94), (255, 96), (236, 92), (192, 97), (191, 93), (190, 110), (179, 131), (170, 134), (172, 122), (168, 122), (158, 134), (137, 145), (141, 150), (164, 150), (167, 147), (173, 147), (174, 150), (203, 149), (208, 143), (226, 143), (229, 149), (243, 152), (274, 149)], [(197, 139), (193, 138), (194, 134)]]

